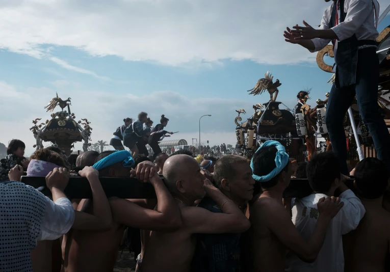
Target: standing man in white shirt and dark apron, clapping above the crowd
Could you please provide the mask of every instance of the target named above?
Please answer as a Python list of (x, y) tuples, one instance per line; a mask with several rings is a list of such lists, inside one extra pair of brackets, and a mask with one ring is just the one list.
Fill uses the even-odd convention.
[(344, 175), (349, 172), (343, 119), (355, 95), (378, 158), (390, 169), (390, 135), (377, 103), (379, 59), (375, 39), (378, 37), (378, 16), (377, 0), (333, 0), (325, 10), (319, 30), (303, 21), (305, 26), (296, 25), (294, 30), (287, 28), (284, 31), (285, 41), (299, 44), (310, 52), (323, 49), (329, 42), (333, 44), (335, 82), (328, 99), (326, 126)]

